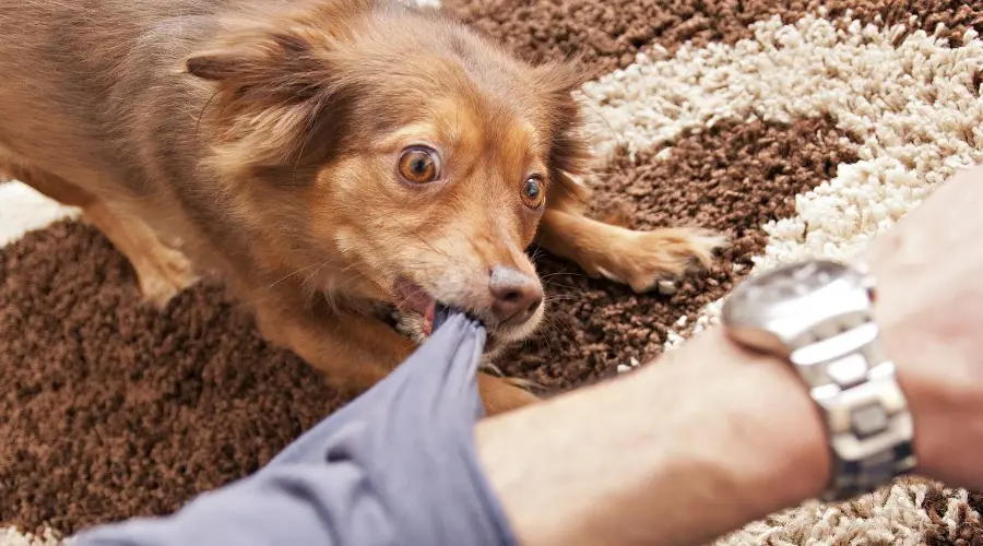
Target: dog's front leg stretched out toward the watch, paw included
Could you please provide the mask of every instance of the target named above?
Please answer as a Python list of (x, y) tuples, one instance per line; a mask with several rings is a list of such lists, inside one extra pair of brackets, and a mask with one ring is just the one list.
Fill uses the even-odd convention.
[(709, 268), (713, 252), (726, 238), (695, 227), (637, 232), (577, 212), (547, 209), (538, 241), (552, 254), (576, 262), (591, 277), (603, 276), (642, 293), (694, 265)]

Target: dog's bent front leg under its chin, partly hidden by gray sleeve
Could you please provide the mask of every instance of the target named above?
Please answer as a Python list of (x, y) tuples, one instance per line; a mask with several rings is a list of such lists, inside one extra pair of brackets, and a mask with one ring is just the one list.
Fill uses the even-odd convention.
[[(293, 351), (328, 376), (328, 381), (360, 394), (381, 381), (416, 349), (416, 344), (387, 324), (360, 314), (284, 312), (260, 307), (263, 336)], [(478, 373), (486, 415), (514, 410), (538, 399), (507, 379)]]

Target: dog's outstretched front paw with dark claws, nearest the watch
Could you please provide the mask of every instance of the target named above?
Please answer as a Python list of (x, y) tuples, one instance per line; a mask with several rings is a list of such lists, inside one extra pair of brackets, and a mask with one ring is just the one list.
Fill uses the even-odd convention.
[(695, 268), (710, 268), (714, 253), (726, 246), (726, 236), (696, 227), (628, 232), (612, 241), (608, 259), (592, 269), (596, 275), (644, 293)]

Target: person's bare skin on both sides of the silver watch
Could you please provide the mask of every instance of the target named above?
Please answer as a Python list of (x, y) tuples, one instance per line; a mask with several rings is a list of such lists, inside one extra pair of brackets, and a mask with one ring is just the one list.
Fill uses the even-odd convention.
[[(969, 488), (983, 487), (981, 202), (983, 168), (960, 173), (865, 257), (915, 418), (916, 471)], [(829, 478), (798, 378), (719, 329), (658, 366), (484, 419), (476, 441), (529, 546), (706, 544)]]

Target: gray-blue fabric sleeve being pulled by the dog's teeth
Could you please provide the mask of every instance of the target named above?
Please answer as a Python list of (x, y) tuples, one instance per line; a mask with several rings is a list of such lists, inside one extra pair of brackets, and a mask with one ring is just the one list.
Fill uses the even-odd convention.
[(386, 380), (259, 472), (74, 546), (517, 544), (478, 466), (484, 329), (454, 314)]

